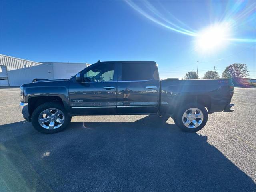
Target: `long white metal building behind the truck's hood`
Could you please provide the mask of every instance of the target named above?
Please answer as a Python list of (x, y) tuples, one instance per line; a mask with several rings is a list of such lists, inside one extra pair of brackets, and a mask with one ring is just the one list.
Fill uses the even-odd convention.
[(33, 79), (71, 78), (90, 64), (34, 62), (0, 54), (0, 86), (20, 86)]

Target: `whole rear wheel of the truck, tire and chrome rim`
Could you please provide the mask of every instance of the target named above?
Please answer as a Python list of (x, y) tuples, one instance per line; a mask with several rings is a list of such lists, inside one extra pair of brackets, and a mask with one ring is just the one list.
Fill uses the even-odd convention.
[(184, 105), (178, 111), (175, 123), (186, 132), (201, 130), (208, 120), (208, 112), (204, 106), (198, 103)]

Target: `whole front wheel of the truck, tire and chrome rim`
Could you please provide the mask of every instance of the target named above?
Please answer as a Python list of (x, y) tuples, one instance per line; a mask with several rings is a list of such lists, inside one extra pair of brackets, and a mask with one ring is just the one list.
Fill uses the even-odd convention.
[(32, 113), (31, 122), (42, 133), (56, 133), (64, 130), (71, 121), (64, 106), (58, 102), (46, 102)]

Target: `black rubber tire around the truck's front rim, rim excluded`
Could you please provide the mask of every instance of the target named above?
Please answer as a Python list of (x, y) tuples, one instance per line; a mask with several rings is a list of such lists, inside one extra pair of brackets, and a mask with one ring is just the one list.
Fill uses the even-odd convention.
[[(49, 109), (49, 108), (55, 108), (55, 109), (61, 110), (63, 112), (64, 117), (65, 117), (64, 123), (59, 128), (46, 129), (46, 128), (43, 128), (39, 124), (39, 122), (38, 122), (39, 115), (41, 114), (41, 112), (43, 112), (44, 110)], [(57, 133), (57, 132), (64, 130), (66, 128), (66, 126), (68, 126), (70, 121), (71, 121), (71, 116), (67, 114), (64, 106), (58, 102), (46, 102), (46, 103), (38, 106), (32, 113), (32, 117), (31, 117), (31, 122), (32, 122), (32, 125), (34, 126), (34, 128), (36, 130), (38, 130), (39, 132), (46, 133), (46, 134)]]

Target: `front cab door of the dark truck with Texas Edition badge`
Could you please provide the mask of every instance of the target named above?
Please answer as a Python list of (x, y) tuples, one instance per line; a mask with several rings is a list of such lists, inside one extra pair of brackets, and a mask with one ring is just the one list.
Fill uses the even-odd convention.
[(117, 64), (100, 62), (80, 73), (82, 82), (70, 82), (74, 114), (116, 114)]

